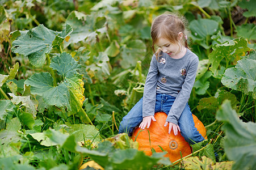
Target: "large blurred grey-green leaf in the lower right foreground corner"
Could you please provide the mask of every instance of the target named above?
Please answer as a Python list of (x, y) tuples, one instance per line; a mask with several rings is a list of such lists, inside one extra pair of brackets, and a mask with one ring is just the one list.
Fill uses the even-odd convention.
[(222, 129), (226, 133), (224, 150), (235, 164), (232, 169), (253, 169), (256, 167), (256, 124), (242, 122), (236, 111), (232, 110), (230, 101), (224, 101), (216, 114), (223, 121)]

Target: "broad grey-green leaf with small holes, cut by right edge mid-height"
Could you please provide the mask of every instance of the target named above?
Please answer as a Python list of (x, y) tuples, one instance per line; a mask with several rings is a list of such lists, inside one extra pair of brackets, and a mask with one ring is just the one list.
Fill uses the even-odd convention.
[[(252, 52), (251, 55), (255, 55)], [(236, 67), (226, 69), (221, 82), (224, 86), (245, 94), (253, 93), (256, 99), (256, 60), (243, 58), (237, 62)]]

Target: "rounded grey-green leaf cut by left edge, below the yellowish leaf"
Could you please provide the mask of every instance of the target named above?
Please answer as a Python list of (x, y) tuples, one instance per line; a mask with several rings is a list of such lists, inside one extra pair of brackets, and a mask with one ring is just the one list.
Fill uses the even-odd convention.
[(14, 114), (15, 105), (11, 100), (0, 100), (0, 119), (6, 120), (7, 114)]

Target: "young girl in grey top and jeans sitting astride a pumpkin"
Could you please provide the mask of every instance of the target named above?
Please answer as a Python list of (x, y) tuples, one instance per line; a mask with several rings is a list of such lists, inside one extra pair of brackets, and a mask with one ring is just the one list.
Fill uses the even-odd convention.
[[(191, 143), (204, 140), (195, 128), (187, 102), (195, 82), (198, 56), (188, 49), (184, 19), (174, 14), (162, 14), (153, 20), (151, 37), (154, 55), (150, 62), (143, 97), (123, 117), (119, 133), (128, 133), (136, 126), (149, 128), (156, 121), (154, 113), (165, 112), (168, 116), (164, 126), (173, 129), (174, 135), (181, 131)], [(154, 46), (158, 46), (157, 52)]]

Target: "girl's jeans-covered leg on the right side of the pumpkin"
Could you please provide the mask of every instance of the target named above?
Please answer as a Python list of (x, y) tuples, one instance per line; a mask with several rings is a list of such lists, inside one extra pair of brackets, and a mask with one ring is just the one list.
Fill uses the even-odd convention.
[(188, 143), (195, 144), (204, 141), (203, 136), (199, 133), (198, 129), (195, 128), (192, 113), (188, 104), (184, 108), (181, 117), (179, 117), (178, 125), (181, 129), (182, 136)]

